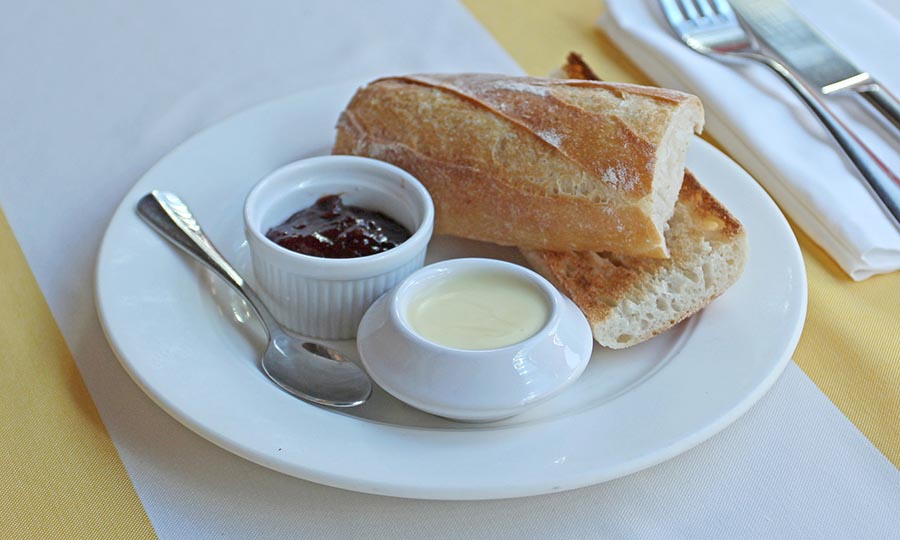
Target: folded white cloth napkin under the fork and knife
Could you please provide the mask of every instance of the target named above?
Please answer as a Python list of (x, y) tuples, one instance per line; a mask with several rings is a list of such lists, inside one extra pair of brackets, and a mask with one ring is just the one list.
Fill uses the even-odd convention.
[[(846, 0), (792, 0), (791, 5), (861, 69), (900, 93), (900, 3), (858, 0), (851, 7)], [(723, 64), (688, 49), (669, 30), (656, 0), (607, 0), (606, 6), (599, 26), (657, 84), (698, 95), (709, 133), (850, 277), (863, 280), (900, 269), (900, 233), (778, 76), (755, 63)], [(896, 130), (852, 94), (829, 96), (826, 102), (900, 172)]]

